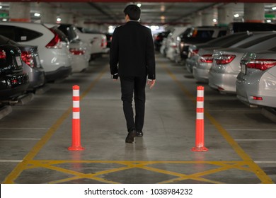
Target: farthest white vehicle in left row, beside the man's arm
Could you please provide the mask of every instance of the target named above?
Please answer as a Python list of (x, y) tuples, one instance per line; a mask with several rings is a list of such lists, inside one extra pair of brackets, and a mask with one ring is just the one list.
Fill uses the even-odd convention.
[(107, 47), (108, 42), (105, 34), (93, 33), (84, 28), (77, 28), (76, 31), (79, 35), (79, 39), (86, 42), (88, 45), (88, 52), (91, 54), (91, 59), (108, 53), (109, 48)]

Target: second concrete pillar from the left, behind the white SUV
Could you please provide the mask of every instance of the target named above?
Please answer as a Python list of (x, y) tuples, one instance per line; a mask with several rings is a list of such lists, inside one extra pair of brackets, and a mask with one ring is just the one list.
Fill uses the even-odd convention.
[(41, 23), (57, 23), (56, 9), (47, 3), (40, 3), (40, 21)]

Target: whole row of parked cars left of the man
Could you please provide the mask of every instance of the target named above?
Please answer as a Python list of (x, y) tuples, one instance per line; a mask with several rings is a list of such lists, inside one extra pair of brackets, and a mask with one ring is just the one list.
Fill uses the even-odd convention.
[(0, 107), (86, 70), (108, 52), (107, 42), (72, 24), (0, 22)]

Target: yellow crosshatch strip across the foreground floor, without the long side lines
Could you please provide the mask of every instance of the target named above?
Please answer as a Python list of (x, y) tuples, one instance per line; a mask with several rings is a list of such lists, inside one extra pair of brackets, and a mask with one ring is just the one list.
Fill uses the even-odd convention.
[[(107, 164), (117, 164), (117, 165), (123, 165), (120, 168), (110, 168), (108, 170), (101, 170), (96, 173), (81, 173), (77, 170), (72, 170), (72, 169), (78, 169), (77, 167), (74, 168), (62, 168), (62, 165), (64, 164), (72, 164), (72, 165), (80, 165), (81, 164), (89, 164), (91, 167), (93, 167), (94, 164), (97, 163), (107, 163)], [(192, 173), (192, 174), (184, 174), (184, 173), (177, 173), (169, 170), (163, 170), (161, 168), (153, 168), (149, 165), (156, 165), (156, 164), (207, 164), (207, 165), (216, 165), (215, 168), (212, 168), (210, 170), (203, 170), (202, 172), (197, 172), (197, 173)], [(57, 166), (60, 165), (60, 166)], [(110, 184), (115, 184), (119, 183), (117, 181), (112, 181), (112, 180), (105, 180), (103, 178), (100, 178), (98, 176), (100, 175), (105, 175), (108, 173), (118, 173), (121, 174), (120, 171), (122, 170), (128, 170), (132, 168), (140, 168), (143, 170), (149, 170), (154, 173), (162, 173), (166, 175), (172, 175), (175, 178), (171, 180), (165, 180), (161, 181), (159, 183), (173, 183), (173, 182), (179, 182), (182, 180), (197, 180), (201, 182), (208, 182), (208, 183), (224, 183), (220, 182), (219, 180), (208, 180), (206, 178), (202, 178), (202, 176), (205, 175), (212, 175), (214, 173), (219, 173), (225, 170), (230, 170), (230, 169), (236, 169), (236, 170), (243, 170), (243, 171), (248, 171), (250, 173), (253, 173), (253, 170), (249, 168), (248, 163), (244, 161), (29, 161), (28, 164), (25, 165), (23, 168), (24, 171), (28, 171), (33, 168), (45, 168), (45, 169), (50, 169), (50, 170), (55, 170), (57, 172), (61, 173), (66, 173), (68, 175), (71, 175), (70, 177), (61, 179), (61, 180), (53, 180), (48, 183), (62, 183), (62, 182), (70, 182), (73, 180), (79, 180), (79, 179), (91, 179), (91, 180), (96, 180), (99, 182), (104, 182), (104, 183), (110, 183)], [(40, 177), (38, 175), (38, 177)]]

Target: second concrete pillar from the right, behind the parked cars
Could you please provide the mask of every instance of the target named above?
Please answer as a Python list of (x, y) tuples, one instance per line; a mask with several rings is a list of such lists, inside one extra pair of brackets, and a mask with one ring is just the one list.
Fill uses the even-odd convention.
[(220, 6), (217, 8), (217, 10), (218, 10), (217, 25), (226, 26), (229, 23), (233, 22), (232, 5)]

